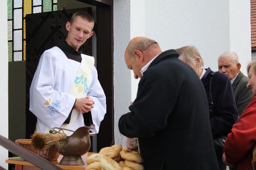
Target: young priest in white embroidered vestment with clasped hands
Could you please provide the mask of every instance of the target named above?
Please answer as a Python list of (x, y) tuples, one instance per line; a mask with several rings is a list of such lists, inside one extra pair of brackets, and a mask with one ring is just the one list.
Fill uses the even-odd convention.
[[(95, 124), (98, 133), (106, 113), (106, 96), (98, 81), (94, 58), (80, 46), (93, 35), (89, 14), (75, 13), (66, 28), (68, 37), (46, 50), (30, 87), (30, 111), (37, 117), (36, 132), (54, 127), (75, 131)], [(69, 132), (69, 135), (72, 132)]]

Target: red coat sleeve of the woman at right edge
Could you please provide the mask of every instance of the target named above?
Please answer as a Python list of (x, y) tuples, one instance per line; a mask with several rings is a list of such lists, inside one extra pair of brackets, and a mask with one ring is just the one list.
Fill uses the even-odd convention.
[(256, 95), (233, 125), (225, 142), (224, 153), (229, 163), (237, 163), (249, 154), (256, 141)]

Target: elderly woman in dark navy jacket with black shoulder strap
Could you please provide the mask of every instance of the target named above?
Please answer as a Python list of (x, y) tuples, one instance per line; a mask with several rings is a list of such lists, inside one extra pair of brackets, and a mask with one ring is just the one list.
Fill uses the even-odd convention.
[[(213, 102), (213, 114), (210, 115), (211, 132), (213, 138), (217, 138), (221, 135), (226, 136), (231, 132), (231, 128), (233, 124), (237, 122), (238, 116), (230, 80), (223, 73), (216, 72), (214, 75), (211, 75), (213, 71), (211, 71), (210, 68), (203, 69), (204, 63), (199, 52), (194, 46), (185, 46), (176, 49), (176, 51), (180, 54), (180, 60), (191, 66), (201, 79), (209, 100), (208, 102), (210, 102), (210, 79), (211, 76), (213, 76), (211, 83), (211, 95)], [(226, 170), (226, 165), (224, 165), (222, 161), (222, 152), (217, 152), (216, 154), (219, 170)]]

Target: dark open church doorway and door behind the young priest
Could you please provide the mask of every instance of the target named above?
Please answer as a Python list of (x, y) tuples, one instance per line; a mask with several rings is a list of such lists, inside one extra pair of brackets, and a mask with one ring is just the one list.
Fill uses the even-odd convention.
[[(71, 2), (72, 1), (72, 2)], [(73, 5), (78, 4), (78, 7)], [(80, 8), (80, 4), (90, 6)], [(63, 5), (59, 11), (59, 6)], [(98, 79), (102, 85), (107, 101), (107, 113), (100, 125), (100, 132), (91, 139), (91, 152), (98, 152), (100, 148), (109, 146), (114, 139), (114, 109), (113, 109), (113, 0), (58, 0), (58, 11), (35, 13), (26, 15), (26, 68), (24, 61), (9, 62), (11, 72), (20, 72), (20, 69), (26, 69), (26, 132), (19, 132), (26, 134), (26, 138), (30, 138), (33, 133), (36, 118), (29, 112), (29, 88), (32, 82), (33, 74), (37, 68), (39, 58), (43, 51), (52, 47), (55, 40), (65, 40), (67, 31), (65, 24), (70, 16), (76, 11), (87, 11), (95, 19), (94, 37), (91, 37), (85, 44), (83, 44), (83, 53), (95, 57), (95, 67), (98, 71)], [(75, 8), (75, 9), (70, 9)], [(17, 67), (17, 64), (20, 65)], [(15, 71), (16, 68), (16, 71)], [(9, 81), (15, 77), (15, 74), (9, 71)], [(25, 77), (19, 77), (25, 79)], [(9, 83), (11, 84), (11, 83)], [(20, 91), (22, 89), (19, 89)], [(22, 97), (23, 100), (24, 97)], [(11, 101), (10, 101), (11, 100)], [(21, 98), (15, 94), (15, 97), (9, 99), (10, 103), (19, 102)], [(23, 108), (24, 106), (20, 106)], [(10, 107), (9, 107), (10, 108)], [(10, 111), (14, 119), (20, 112)], [(15, 126), (11, 119), (9, 126)], [(10, 129), (10, 128), (9, 128)], [(16, 128), (17, 130), (17, 124)], [(17, 132), (15, 132), (17, 133)], [(15, 137), (15, 133), (9, 131), (9, 138), (19, 139)], [(11, 155), (9, 155), (11, 156)]]

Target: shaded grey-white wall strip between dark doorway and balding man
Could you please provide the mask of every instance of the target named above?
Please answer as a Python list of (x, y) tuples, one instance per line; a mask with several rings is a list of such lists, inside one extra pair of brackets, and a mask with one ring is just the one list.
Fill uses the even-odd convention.
[(130, 40), (130, 1), (114, 0), (114, 128), (115, 144), (125, 144), (119, 133), (118, 120), (127, 113), (131, 101), (131, 75), (124, 62), (124, 51)]

